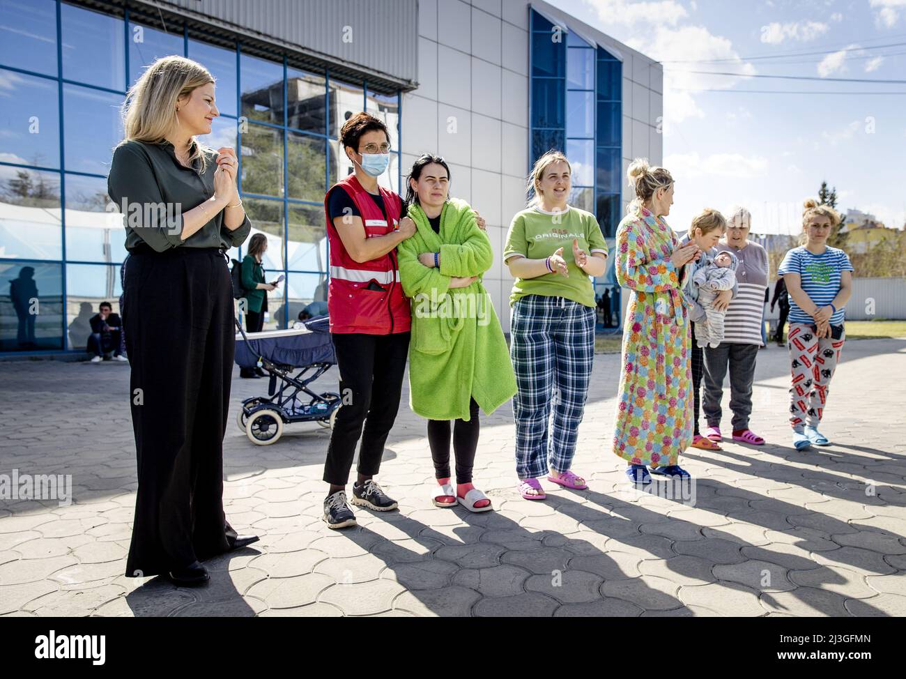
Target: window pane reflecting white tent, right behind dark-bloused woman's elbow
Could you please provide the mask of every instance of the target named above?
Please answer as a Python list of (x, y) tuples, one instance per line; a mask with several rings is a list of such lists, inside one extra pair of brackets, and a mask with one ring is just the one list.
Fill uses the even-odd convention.
[(107, 197), (107, 179), (66, 175), (66, 259), (119, 263), (125, 258), (126, 231)]

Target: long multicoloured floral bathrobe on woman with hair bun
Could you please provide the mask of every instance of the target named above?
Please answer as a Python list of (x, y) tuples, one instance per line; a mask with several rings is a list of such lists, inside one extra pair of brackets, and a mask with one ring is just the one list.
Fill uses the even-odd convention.
[[(677, 464), (692, 442), (688, 311), (670, 261), (679, 238), (639, 208), (617, 228), (617, 281), (631, 289), (623, 325), (613, 452), (631, 464)], [(686, 267), (688, 270), (689, 267)]]

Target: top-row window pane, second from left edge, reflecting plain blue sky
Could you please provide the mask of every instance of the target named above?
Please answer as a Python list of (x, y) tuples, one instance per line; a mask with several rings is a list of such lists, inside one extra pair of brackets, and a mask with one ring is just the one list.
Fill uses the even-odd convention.
[(109, 15), (63, 3), (63, 77), (125, 90), (123, 22)]

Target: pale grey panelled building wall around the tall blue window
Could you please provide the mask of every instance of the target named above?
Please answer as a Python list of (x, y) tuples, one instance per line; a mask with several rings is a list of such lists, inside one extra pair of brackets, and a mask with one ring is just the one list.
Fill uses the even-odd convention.
[[(526, 0), (419, 0), (419, 88), (403, 95), (402, 169), (424, 152), (450, 166), (450, 194), (487, 219), (494, 266), (485, 276), (497, 315), (509, 330), (513, 279), (502, 261), (510, 219), (525, 207), (529, 161), (528, 7)], [(660, 64), (551, 5), (535, 7), (578, 27), (623, 60), (622, 155), (660, 163)], [(405, 187), (400, 187), (400, 192)], [(623, 189), (624, 206), (632, 199)]]

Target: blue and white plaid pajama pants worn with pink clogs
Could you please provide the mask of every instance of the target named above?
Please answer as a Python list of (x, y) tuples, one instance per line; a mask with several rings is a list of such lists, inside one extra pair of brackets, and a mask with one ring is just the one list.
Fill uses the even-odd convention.
[[(594, 360), (594, 309), (564, 297), (527, 295), (513, 305), (516, 474), (535, 479), (573, 462)], [(553, 426), (551, 415), (553, 411)]]

